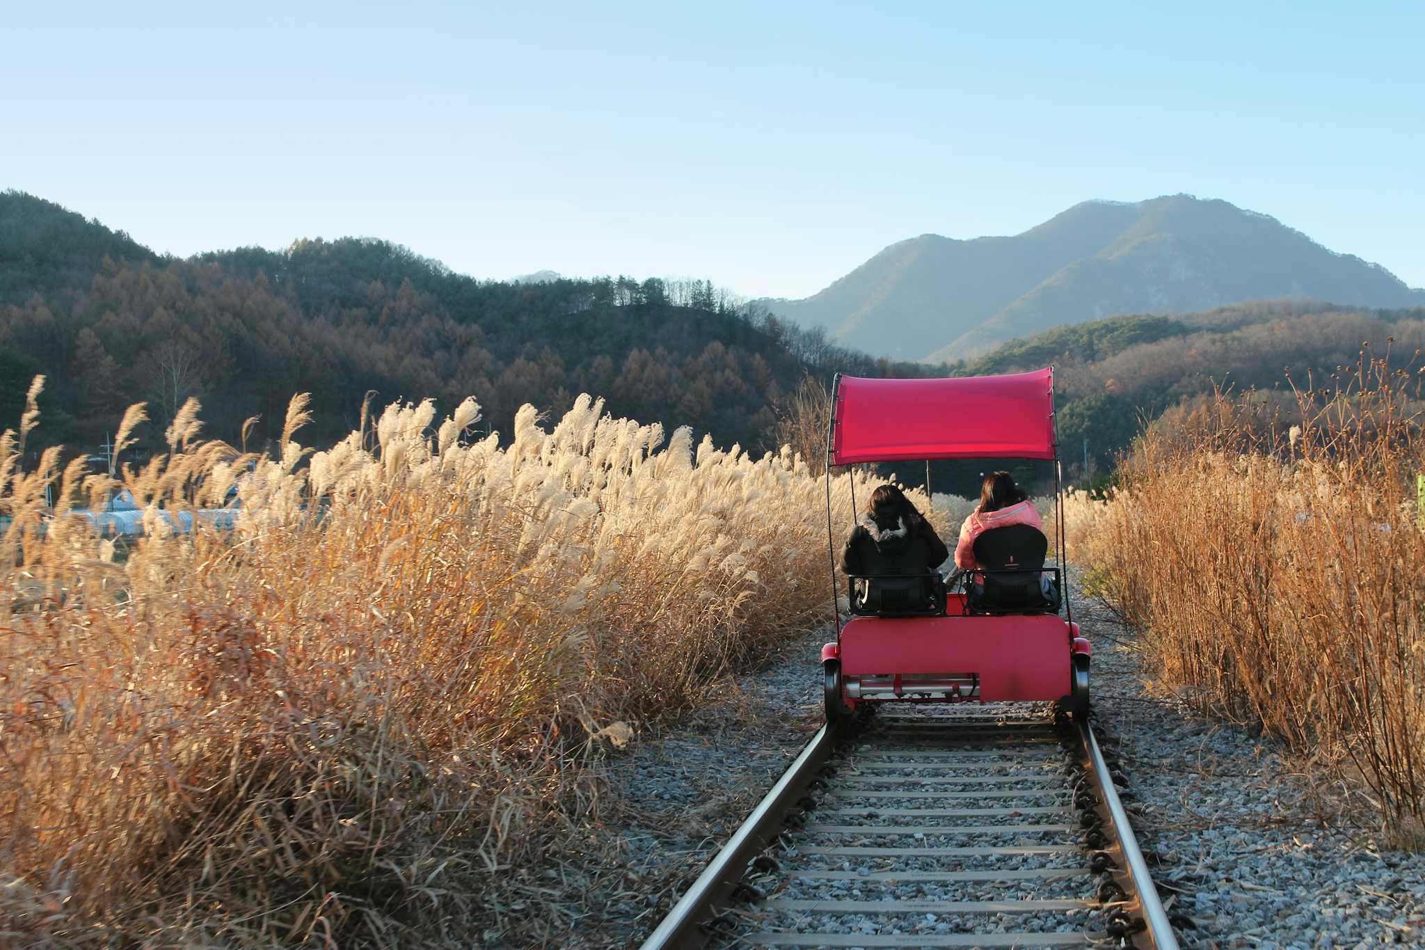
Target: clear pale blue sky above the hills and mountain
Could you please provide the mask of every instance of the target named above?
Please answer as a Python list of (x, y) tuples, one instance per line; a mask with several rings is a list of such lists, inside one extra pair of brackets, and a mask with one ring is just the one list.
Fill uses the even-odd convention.
[(1190, 192), (1425, 286), (1425, 3), (695, 6), (11, 3), (0, 188), (750, 296)]

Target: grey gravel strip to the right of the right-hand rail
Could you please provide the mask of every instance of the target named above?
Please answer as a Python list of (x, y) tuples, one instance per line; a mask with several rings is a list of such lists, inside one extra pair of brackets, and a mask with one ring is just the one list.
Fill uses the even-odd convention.
[(1163, 897), (1186, 892), (1168, 913), (1197, 923), (1178, 930), (1184, 947), (1425, 944), (1425, 855), (1351, 828), (1275, 743), (1147, 689), (1110, 611), (1080, 601), (1074, 620), (1094, 647), (1096, 725), (1141, 806), (1139, 842), (1163, 859)]

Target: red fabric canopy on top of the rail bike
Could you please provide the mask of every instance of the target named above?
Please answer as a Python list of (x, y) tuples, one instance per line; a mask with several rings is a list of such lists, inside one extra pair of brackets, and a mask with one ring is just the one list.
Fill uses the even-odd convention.
[(832, 464), (1053, 459), (1054, 372), (861, 379), (836, 386)]

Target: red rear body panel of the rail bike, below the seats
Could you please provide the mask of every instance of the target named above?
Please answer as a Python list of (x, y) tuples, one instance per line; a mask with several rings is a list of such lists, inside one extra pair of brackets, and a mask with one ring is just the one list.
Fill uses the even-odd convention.
[(1069, 625), (1052, 614), (856, 617), (841, 631), (845, 677), (979, 674), (980, 701), (1054, 701), (1070, 687)]

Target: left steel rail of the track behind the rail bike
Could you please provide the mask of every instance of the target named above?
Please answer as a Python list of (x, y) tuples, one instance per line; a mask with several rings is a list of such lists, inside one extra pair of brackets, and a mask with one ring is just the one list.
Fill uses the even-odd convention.
[(693, 947), (707, 941), (701, 924), (712, 916), (712, 909), (737, 886), (750, 862), (782, 829), (788, 806), (807, 792), (817, 771), (831, 758), (836, 736), (828, 726), (802, 748), (801, 755), (777, 779), (737, 833), (712, 857), (707, 869), (693, 882), (683, 899), (673, 906), (663, 923), (643, 941), (641, 950)]

